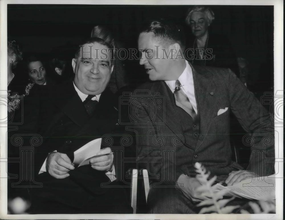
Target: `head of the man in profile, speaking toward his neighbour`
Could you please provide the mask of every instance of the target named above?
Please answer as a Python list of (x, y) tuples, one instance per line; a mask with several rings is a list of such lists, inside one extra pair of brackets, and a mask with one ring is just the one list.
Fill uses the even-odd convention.
[(185, 38), (176, 24), (152, 21), (139, 35), (138, 47), (150, 80), (176, 80), (182, 73), (177, 67), (185, 63)]

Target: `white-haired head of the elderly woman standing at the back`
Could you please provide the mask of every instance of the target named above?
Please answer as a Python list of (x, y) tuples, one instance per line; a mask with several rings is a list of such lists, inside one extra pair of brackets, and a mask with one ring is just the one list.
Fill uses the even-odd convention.
[(186, 23), (190, 26), (192, 34), (200, 38), (207, 34), (208, 27), (214, 19), (215, 15), (209, 7), (198, 5), (188, 10)]

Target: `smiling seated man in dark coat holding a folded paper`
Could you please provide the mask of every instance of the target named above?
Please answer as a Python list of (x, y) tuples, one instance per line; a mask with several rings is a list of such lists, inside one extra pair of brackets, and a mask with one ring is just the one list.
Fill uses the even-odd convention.
[[(72, 59), (73, 82), (38, 86), (25, 100), (24, 124), (17, 133), (43, 139), (34, 154), (34, 181), (43, 185), (31, 190), (32, 213), (131, 212), (124, 189), (113, 186), (109, 147), (101, 146), (89, 165), (73, 163), (74, 151), (119, 129), (118, 102), (106, 88), (113, 70), (108, 49), (113, 46), (100, 38), (82, 45)], [(108, 187), (101, 186), (108, 182)]]

